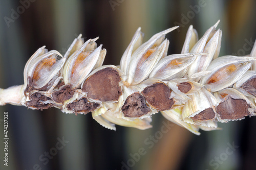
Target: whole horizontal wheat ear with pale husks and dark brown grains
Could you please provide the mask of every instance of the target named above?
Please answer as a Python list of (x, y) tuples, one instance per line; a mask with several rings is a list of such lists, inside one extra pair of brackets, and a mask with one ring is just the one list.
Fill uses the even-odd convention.
[(202, 38), (188, 28), (181, 54), (167, 55), (165, 35), (143, 41), (139, 28), (122, 55), (120, 66), (103, 65), (106, 50), (79, 35), (61, 56), (39, 48), (24, 69), (24, 85), (0, 89), (0, 105), (31, 109), (56, 107), (87, 114), (103, 127), (148, 129), (152, 115), (200, 135), (219, 130), (217, 123), (256, 114), (256, 45), (249, 56), (218, 57), (219, 21)]

